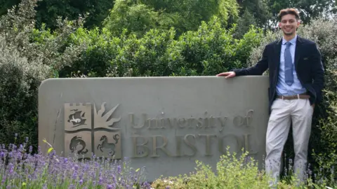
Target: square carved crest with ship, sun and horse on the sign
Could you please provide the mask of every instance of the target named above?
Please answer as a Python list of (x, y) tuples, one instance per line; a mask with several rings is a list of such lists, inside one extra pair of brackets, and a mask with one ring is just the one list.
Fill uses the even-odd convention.
[(65, 104), (65, 156), (121, 159), (121, 132), (112, 127), (121, 118), (112, 118), (118, 108), (105, 112), (105, 103), (97, 111), (91, 103)]

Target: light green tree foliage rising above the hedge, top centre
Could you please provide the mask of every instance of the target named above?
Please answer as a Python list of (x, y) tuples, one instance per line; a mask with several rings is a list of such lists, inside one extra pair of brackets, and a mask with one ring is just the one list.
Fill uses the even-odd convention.
[(117, 36), (124, 29), (142, 36), (150, 29), (169, 30), (171, 27), (180, 35), (197, 30), (201, 21), (208, 22), (213, 16), (220, 18), (222, 25), (227, 26), (228, 20), (237, 19), (238, 14), (234, 0), (117, 0), (104, 25)]

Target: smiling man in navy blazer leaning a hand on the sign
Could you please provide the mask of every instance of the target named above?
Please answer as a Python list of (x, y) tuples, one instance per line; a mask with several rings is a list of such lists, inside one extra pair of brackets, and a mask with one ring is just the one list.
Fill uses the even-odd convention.
[(269, 69), (270, 118), (266, 135), (265, 169), (275, 183), (279, 180), (281, 156), (292, 122), (294, 141), (294, 172), (305, 179), (312, 113), (322, 99), (324, 69), (321, 55), (313, 41), (296, 34), (299, 15), (293, 8), (278, 15), (283, 38), (265, 46), (263, 57), (256, 65), (234, 69), (217, 76), (262, 75)]

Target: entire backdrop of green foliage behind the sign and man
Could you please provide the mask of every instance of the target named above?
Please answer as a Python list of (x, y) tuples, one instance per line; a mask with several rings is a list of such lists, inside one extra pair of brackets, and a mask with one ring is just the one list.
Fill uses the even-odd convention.
[[(298, 34), (317, 42), (326, 69), (309, 158), (327, 174), (337, 162), (337, 26), (321, 14), (333, 15), (334, 2), (307, 6), (313, 2), (0, 0), (0, 144), (18, 133), (37, 147), (37, 92), (46, 78), (214, 76), (251, 66), (281, 37), (278, 10), (297, 6)], [(291, 134), (285, 154), (293, 158)]]

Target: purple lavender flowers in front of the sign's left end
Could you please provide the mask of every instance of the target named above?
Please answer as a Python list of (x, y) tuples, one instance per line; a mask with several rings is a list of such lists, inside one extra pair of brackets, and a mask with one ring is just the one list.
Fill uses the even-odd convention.
[[(27, 138), (26, 138), (27, 141)], [(95, 158), (89, 161), (74, 160), (73, 158), (62, 158), (56, 155), (55, 151), (45, 155), (41, 153), (38, 146), (38, 153), (32, 154), (32, 146), (29, 146), (29, 153), (25, 153), (26, 144), (10, 144), (8, 148), (3, 144), (0, 148), (0, 169), (4, 170), (5, 161), (2, 158), (10, 158), (6, 166), (6, 172), (0, 172), (0, 185), (4, 186), (8, 179), (13, 183), (26, 181), (27, 183), (48, 183), (48, 186), (57, 187), (60, 183), (77, 183), (83, 188), (87, 187), (84, 181), (93, 183), (93, 187), (107, 186), (107, 188), (132, 187), (131, 183), (142, 183), (138, 181), (143, 172), (129, 172), (121, 174), (121, 160), (112, 162)], [(143, 169), (142, 169), (143, 170)], [(46, 178), (41, 181), (41, 178)], [(150, 188), (147, 183), (143, 184)], [(4, 186), (12, 188), (15, 186)], [(46, 187), (44, 185), (43, 187)], [(76, 184), (67, 185), (66, 188), (76, 188)], [(144, 187), (143, 187), (144, 188)]]

